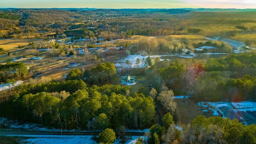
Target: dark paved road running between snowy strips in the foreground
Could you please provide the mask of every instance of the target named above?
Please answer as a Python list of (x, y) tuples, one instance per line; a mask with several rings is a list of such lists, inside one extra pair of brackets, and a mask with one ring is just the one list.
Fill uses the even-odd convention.
[[(66, 131), (23, 131), (23, 130), (0, 130), (0, 135), (94, 135), (93, 132), (66, 132)], [(96, 132), (99, 135), (99, 132)], [(144, 136), (144, 132), (127, 132), (126, 135)]]

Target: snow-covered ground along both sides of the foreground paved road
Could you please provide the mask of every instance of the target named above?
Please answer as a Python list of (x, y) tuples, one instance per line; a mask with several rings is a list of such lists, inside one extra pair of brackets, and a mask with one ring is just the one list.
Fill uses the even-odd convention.
[[(7, 118), (0, 117), (0, 124), (7, 127), (7, 130), (40, 130), (40, 131), (61, 131), (55, 128), (45, 128), (40, 124), (24, 123), (21, 124), (18, 121), (8, 120)], [(76, 131), (76, 130), (63, 130), (63, 131)], [(148, 132), (145, 130), (127, 130), (127, 132)], [(27, 137), (24, 142), (28, 144), (97, 144), (92, 139), (92, 136), (66, 136), (66, 135), (8, 135), (8, 136), (22, 136)], [(140, 136), (127, 137), (128, 141), (125, 144), (134, 144)], [(141, 136), (143, 139), (146, 137)], [(121, 140), (115, 140), (114, 144), (119, 144)]]

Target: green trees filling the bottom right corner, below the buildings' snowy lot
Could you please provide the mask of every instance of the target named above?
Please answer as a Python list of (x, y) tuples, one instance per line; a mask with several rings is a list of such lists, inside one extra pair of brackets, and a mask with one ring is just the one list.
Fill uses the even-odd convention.
[[(244, 126), (237, 119), (198, 116), (191, 124), (168, 127), (153, 125), (143, 144), (255, 144), (256, 125)], [(139, 144), (138, 142), (136, 144)]]

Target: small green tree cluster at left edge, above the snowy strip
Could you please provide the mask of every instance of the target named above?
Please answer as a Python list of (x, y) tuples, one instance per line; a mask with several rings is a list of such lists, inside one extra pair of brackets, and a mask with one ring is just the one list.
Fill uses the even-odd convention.
[(28, 73), (27, 66), (22, 62), (7, 62), (0, 64), (0, 82), (6, 82), (7, 79), (19, 80)]

